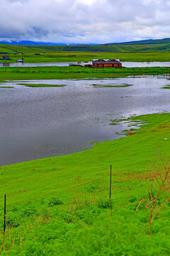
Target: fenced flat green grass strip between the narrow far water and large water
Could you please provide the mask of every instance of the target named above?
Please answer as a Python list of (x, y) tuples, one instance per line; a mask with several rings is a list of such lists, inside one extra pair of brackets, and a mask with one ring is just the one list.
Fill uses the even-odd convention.
[(114, 78), (128, 75), (164, 75), (170, 74), (170, 68), (83, 68), (83, 67), (35, 67), (0, 68), (1, 80), (33, 79), (76, 79), (76, 78)]

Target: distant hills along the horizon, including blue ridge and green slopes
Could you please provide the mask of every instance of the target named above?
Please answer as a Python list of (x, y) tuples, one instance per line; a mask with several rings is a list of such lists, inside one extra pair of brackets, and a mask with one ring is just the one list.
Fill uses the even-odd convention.
[(131, 41), (124, 43), (62, 44), (34, 41), (0, 41), (0, 51), (7, 53), (52, 53), (52, 52), (107, 52), (107, 53), (153, 53), (170, 52), (170, 38)]

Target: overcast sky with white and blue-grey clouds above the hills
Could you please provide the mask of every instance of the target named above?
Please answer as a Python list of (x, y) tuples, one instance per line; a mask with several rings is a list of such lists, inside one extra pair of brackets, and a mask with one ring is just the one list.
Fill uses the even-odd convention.
[(170, 38), (170, 0), (0, 0), (0, 40), (113, 43)]

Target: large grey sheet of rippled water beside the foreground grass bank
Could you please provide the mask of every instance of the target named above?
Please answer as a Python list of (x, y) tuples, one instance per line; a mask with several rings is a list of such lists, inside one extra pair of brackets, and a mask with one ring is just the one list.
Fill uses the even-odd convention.
[[(67, 85), (44, 88), (19, 85), (22, 82), (0, 88), (0, 166), (70, 154), (89, 149), (91, 141), (117, 139), (115, 132), (128, 124), (113, 126), (111, 119), (170, 112), (170, 90), (162, 88), (170, 80), (164, 77), (29, 81)], [(124, 84), (131, 86), (104, 87)]]

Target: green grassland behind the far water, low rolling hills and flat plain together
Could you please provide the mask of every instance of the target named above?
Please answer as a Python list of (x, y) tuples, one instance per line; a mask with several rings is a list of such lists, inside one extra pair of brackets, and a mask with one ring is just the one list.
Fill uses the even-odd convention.
[[(166, 47), (167, 46), (167, 47)], [(160, 49), (159, 49), (160, 47)], [(162, 49), (164, 48), (164, 50)], [(120, 46), (10, 46), (0, 45), (1, 52), (10, 53), (11, 60), (16, 62), (23, 58), (26, 63), (91, 61), (93, 58), (118, 58), (120, 61), (169, 61), (170, 44)], [(0, 55), (1, 56), (1, 55)], [(1, 58), (1, 57), (0, 57)]]

